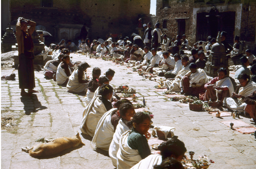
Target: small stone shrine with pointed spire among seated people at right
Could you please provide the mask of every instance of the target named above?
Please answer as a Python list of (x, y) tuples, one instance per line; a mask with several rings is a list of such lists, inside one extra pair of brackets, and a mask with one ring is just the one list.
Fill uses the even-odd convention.
[[(217, 43), (212, 45), (211, 54), (206, 62), (204, 71), (208, 76), (217, 77), (217, 71), (220, 67), (224, 67), (228, 70), (228, 58), (225, 52), (225, 47), (220, 42), (219, 32), (217, 37)], [(227, 76), (229, 76), (229, 71)]]

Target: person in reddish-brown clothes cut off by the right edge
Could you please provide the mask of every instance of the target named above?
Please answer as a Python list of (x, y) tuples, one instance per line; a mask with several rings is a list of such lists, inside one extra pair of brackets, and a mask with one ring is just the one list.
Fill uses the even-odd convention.
[(256, 124), (256, 91), (254, 91), (251, 95), (248, 95), (244, 98), (244, 102), (247, 104), (245, 106), (245, 111), (249, 113), (249, 115), (252, 117), (250, 119), (250, 122), (253, 122)]

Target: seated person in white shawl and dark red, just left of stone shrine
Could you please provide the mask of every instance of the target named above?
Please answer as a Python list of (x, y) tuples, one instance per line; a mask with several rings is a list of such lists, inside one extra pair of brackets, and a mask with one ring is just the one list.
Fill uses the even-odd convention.
[(197, 69), (196, 63), (190, 63), (190, 71), (180, 81), (180, 93), (185, 95), (196, 95), (205, 92), (204, 84), (207, 82), (207, 75), (203, 69)]

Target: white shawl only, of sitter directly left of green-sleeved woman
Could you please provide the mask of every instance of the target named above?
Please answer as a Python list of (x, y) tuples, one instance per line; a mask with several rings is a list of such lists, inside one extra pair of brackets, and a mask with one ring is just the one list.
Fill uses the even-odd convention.
[(119, 140), (121, 135), (125, 132), (130, 130), (129, 127), (123, 122), (122, 119), (119, 120), (117, 126), (116, 126), (116, 131), (113, 136), (113, 140), (111, 141), (111, 144), (109, 146), (109, 157), (112, 159), (113, 165), (116, 167), (117, 166), (117, 151), (119, 150)]

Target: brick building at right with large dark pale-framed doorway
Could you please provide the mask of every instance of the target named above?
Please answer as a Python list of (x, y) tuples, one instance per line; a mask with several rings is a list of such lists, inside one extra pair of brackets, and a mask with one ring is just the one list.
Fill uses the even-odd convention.
[[(228, 42), (239, 35), (241, 40), (256, 44), (256, 1), (252, 0), (166, 0), (156, 1), (156, 21), (162, 25), (167, 20), (167, 29), (162, 29), (169, 38), (179, 34), (179, 22), (185, 22), (184, 32), (190, 44), (198, 40), (206, 41), (209, 36), (209, 11), (214, 6), (219, 12), (218, 31), (228, 32)], [(155, 23), (154, 23), (155, 24)], [(216, 37), (215, 37), (216, 38)]]

